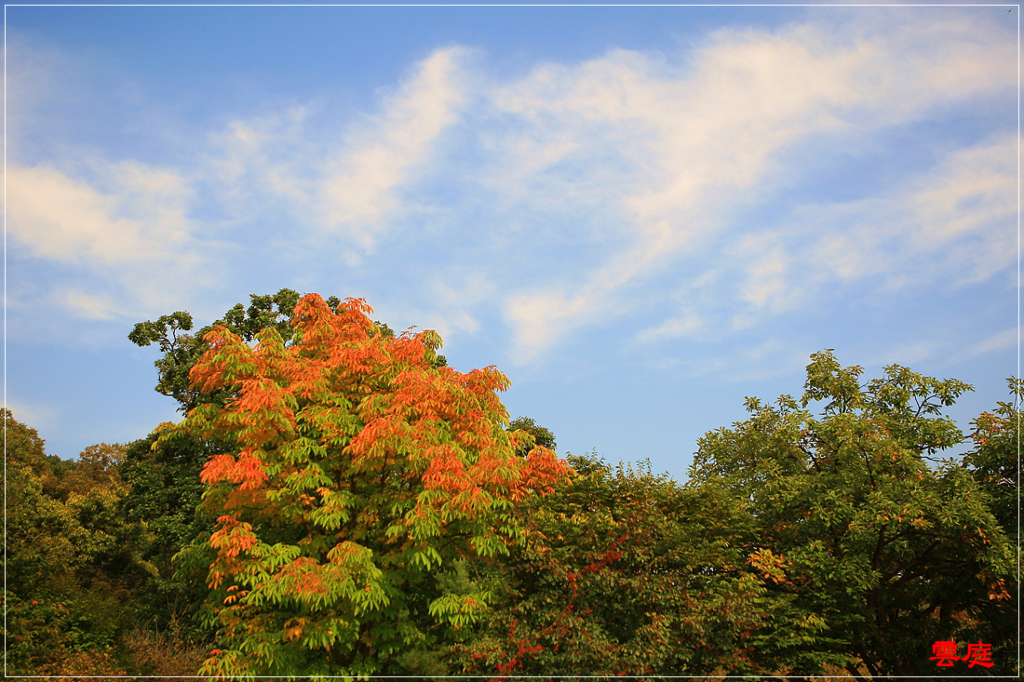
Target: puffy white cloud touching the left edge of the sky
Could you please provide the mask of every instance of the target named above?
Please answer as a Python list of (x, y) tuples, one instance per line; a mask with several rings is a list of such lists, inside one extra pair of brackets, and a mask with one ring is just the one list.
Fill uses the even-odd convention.
[(180, 307), (208, 286), (215, 275), (203, 265), (215, 245), (198, 239), (187, 215), (188, 182), (137, 162), (91, 165), (91, 182), (50, 166), (8, 166), (10, 247), (66, 266), (59, 283), (35, 282), (35, 294), (12, 283), (11, 307), (28, 310), (41, 295), (78, 316), (112, 319)]

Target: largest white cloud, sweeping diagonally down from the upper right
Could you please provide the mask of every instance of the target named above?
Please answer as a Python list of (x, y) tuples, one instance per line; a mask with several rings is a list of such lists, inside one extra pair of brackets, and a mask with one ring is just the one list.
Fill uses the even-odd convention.
[[(723, 31), (685, 66), (613, 50), (574, 68), (545, 65), (499, 88), (495, 105), (517, 117), (518, 127), (495, 146), (496, 177), (518, 182), (515, 196), (620, 217), (626, 243), (583, 276), (573, 272), (575, 284), (556, 276), (507, 296), (516, 356), (536, 357), (596, 319), (598, 309), (605, 319), (634, 309), (627, 290), (681, 259), (706, 256), (727, 228), (721, 216), (770, 189), (772, 175), (784, 170), (775, 155), (787, 145), (912, 121), (936, 104), (1013, 86), (993, 68), (1013, 58), (1012, 43), (986, 36), (985, 27), (926, 27), (936, 43), (919, 39), (921, 22), (868, 29), (840, 39), (812, 26)], [(983, 199), (999, 181), (972, 179)], [(599, 209), (588, 210), (596, 196)], [(945, 224), (980, 224), (976, 210), (964, 210), (969, 223)], [(820, 245), (835, 254), (838, 271), (854, 276), (863, 265), (845, 247)], [(778, 246), (750, 261), (739, 299), (773, 313), (791, 309), (804, 294), (803, 283), (787, 276), (787, 261)]]

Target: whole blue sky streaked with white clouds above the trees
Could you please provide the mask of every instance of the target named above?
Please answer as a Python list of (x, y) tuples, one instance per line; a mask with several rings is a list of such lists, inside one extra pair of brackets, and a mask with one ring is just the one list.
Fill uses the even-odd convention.
[(1018, 373), (1012, 7), (7, 7), (6, 400), (176, 420), (133, 325), (283, 287), (682, 478), (810, 353)]

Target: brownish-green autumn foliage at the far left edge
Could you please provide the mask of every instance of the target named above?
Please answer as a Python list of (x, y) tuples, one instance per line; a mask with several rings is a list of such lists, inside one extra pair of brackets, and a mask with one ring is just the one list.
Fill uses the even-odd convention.
[(35, 429), (4, 418), (8, 671), (81, 674), (69, 660), (105, 660), (133, 616), (139, 527), (118, 513), (125, 488), (111, 468), (123, 446), (54, 463)]

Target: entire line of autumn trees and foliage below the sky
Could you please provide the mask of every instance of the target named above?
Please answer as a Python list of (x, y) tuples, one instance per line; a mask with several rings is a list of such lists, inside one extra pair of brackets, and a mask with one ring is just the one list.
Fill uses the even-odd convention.
[(186, 417), (76, 461), (4, 411), (8, 675), (1019, 672), (1021, 382), (965, 436), (970, 386), (816, 353), (680, 483), (558, 460), (501, 373), (369, 312), (136, 326)]

